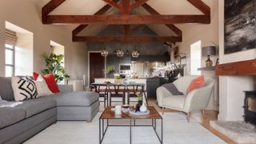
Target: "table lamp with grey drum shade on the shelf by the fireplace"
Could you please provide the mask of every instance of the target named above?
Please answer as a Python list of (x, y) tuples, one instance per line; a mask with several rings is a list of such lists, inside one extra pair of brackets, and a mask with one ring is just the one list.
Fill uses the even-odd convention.
[(202, 56), (207, 56), (206, 67), (213, 66), (213, 61), (210, 60), (210, 55), (216, 55), (216, 47), (215, 46), (204, 46), (202, 47)]

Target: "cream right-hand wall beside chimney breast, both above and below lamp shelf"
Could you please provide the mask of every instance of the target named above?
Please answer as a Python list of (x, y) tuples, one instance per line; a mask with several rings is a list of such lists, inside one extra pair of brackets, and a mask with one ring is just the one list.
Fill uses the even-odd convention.
[[(202, 46), (213, 46), (213, 42), (218, 46), (218, 2), (215, 0), (203, 0), (210, 6), (210, 24), (182, 24), (176, 25), (182, 30), (183, 39), (178, 43), (179, 51), (188, 54), (187, 75), (190, 75), (190, 45), (201, 40)], [(214, 66), (217, 56), (211, 56)], [(206, 57), (202, 57), (201, 66), (205, 67)], [(202, 74), (215, 79), (214, 94), (210, 98), (207, 110), (218, 110), (218, 77), (214, 71), (202, 71)]]

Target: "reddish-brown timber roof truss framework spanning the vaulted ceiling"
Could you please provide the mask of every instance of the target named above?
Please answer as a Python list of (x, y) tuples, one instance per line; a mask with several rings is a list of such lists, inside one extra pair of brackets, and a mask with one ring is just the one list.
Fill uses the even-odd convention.
[[(154, 8), (146, 4), (148, 0), (135, 0), (135, 3), (130, 5), (130, 0), (103, 0), (107, 3), (102, 9), (98, 10), (94, 15), (49, 15), (52, 10), (65, 2), (65, 0), (51, 0), (42, 8), (42, 23), (44, 24), (82, 24), (73, 30), (72, 36), (74, 42), (111, 42), (114, 40), (120, 42), (182, 42), (182, 30), (174, 26), (174, 23), (210, 23), (210, 7), (202, 0), (187, 0), (192, 5), (202, 11), (203, 14), (193, 15), (161, 15)], [(104, 15), (111, 7), (120, 10), (121, 15)], [(131, 15), (130, 11), (138, 6), (142, 6), (152, 15)], [(79, 32), (85, 29), (89, 24), (104, 24), (104, 25), (124, 25), (125, 37), (105, 36), (105, 37), (86, 37), (77, 36)], [(164, 24), (170, 30), (177, 34), (177, 37), (134, 37), (130, 36), (130, 25), (145, 25), (145, 24)], [(139, 26), (138, 26), (139, 27)]]

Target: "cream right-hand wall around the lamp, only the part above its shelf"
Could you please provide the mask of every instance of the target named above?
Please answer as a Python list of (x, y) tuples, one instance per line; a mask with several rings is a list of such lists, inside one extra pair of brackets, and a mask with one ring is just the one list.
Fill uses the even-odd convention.
[[(213, 46), (213, 42), (218, 45), (218, 2), (204, 0), (206, 5), (210, 6), (210, 24), (182, 24), (177, 25), (183, 34), (181, 43), (178, 43), (181, 53), (189, 54), (190, 45), (194, 42), (201, 41), (202, 46)], [(216, 62), (216, 58), (212, 56), (211, 60)], [(202, 57), (202, 66), (205, 66), (206, 57)], [(190, 62), (188, 62), (188, 73), (190, 74)]]

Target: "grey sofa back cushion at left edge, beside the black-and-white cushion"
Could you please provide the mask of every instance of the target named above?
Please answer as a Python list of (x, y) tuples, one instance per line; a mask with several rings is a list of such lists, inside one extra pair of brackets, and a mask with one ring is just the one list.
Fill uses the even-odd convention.
[(0, 77), (0, 95), (3, 100), (14, 101), (14, 92), (11, 86), (11, 78)]

